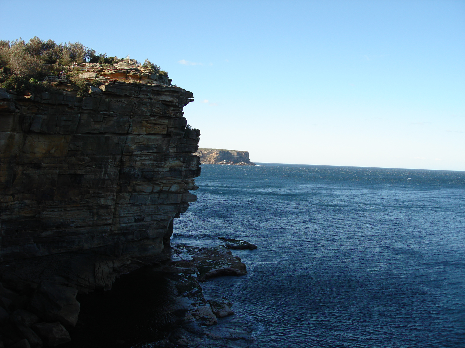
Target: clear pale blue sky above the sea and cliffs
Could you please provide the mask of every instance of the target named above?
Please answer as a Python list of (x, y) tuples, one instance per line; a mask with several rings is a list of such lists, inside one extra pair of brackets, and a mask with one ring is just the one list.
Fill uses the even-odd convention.
[(160, 65), (194, 93), (185, 116), (200, 147), (257, 162), (465, 170), (465, 1), (1, 6), (1, 39), (80, 41)]

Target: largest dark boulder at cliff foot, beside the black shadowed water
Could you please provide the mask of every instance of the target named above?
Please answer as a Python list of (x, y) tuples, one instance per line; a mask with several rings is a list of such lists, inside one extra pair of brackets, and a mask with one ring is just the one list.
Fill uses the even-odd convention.
[(80, 310), (77, 293), (77, 289), (42, 281), (33, 294), (29, 309), (46, 321), (74, 326)]

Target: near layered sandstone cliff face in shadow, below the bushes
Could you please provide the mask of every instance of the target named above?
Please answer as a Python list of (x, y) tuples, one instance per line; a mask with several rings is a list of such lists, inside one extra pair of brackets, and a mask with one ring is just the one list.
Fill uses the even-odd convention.
[(0, 273), (11, 287), (108, 289), (134, 258), (162, 251), (196, 200), (198, 135), (182, 112), (192, 93), (132, 63), (83, 74), (100, 81), (85, 97), (67, 80), (39, 95), (0, 90)]

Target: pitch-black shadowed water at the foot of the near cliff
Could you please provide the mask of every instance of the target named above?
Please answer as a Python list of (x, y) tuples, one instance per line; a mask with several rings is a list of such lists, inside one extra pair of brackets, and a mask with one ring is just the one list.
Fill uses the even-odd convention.
[(142, 268), (121, 276), (112, 290), (78, 295), (79, 321), (70, 330), (68, 348), (128, 348), (166, 337), (173, 322), (169, 280)]

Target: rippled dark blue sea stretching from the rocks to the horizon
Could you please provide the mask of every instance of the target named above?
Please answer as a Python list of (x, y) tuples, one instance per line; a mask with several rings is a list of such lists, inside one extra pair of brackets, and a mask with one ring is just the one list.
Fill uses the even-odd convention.
[(216, 278), (250, 347), (465, 347), (465, 172), (202, 165), (173, 241), (245, 239)]

